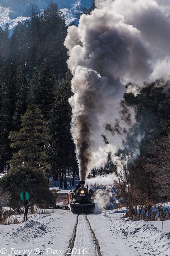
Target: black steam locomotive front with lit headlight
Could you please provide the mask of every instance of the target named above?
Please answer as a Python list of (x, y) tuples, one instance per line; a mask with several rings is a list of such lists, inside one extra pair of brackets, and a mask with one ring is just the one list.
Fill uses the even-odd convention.
[(75, 214), (93, 213), (95, 208), (93, 193), (92, 189), (88, 189), (88, 186), (85, 187), (85, 181), (80, 181), (80, 185), (71, 193), (71, 212)]

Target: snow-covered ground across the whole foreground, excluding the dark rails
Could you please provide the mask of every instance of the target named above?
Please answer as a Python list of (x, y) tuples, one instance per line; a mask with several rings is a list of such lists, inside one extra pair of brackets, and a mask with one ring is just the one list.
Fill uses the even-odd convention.
[[(161, 221), (121, 219), (123, 212), (117, 209), (100, 215), (88, 215), (103, 256), (170, 255), (170, 220), (163, 222), (164, 231), (161, 231)], [(77, 215), (70, 211), (56, 210), (52, 214), (29, 215), (28, 222), (22, 224), (0, 225), (0, 249), (6, 249), (4, 255), (11, 256), (35, 255), (36, 252), (42, 252), (43, 255), (66, 255), (76, 220)], [(74, 248), (77, 249), (77, 252), (73, 251), (74, 255), (84, 255), (84, 249), (87, 256), (96, 255), (94, 240), (84, 215), (79, 216)], [(1, 254), (3, 252), (0, 251)]]

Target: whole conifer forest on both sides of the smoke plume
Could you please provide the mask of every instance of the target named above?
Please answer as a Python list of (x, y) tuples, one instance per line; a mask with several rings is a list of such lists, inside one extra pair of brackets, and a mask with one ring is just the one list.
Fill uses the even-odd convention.
[[(8, 24), (0, 30), (0, 172), (24, 162), (59, 179), (61, 187), (63, 181), (67, 187), (70, 172), (79, 175), (70, 133), (72, 75), (63, 45), (66, 33), (54, 3), (41, 15), (32, 8), (30, 19), (19, 22), (11, 37)], [(118, 154), (132, 153), (137, 135), (142, 137), (140, 155), (129, 160), (116, 184), (119, 196), (128, 202), (149, 204), (169, 197), (169, 84), (162, 79), (146, 84), (136, 97), (124, 95), (122, 105), (134, 107), (137, 123), (127, 134), (128, 147)], [(93, 170), (94, 176), (116, 172), (110, 154), (104, 169)], [(131, 191), (127, 192), (129, 183)]]

